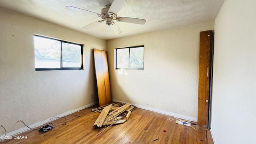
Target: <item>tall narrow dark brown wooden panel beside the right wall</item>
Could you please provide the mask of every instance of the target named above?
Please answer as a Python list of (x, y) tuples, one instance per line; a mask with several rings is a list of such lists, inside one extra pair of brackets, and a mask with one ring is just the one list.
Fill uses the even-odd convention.
[(208, 127), (211, 57), (212, 31), (200, 32), (198, 125), (204, 128)]

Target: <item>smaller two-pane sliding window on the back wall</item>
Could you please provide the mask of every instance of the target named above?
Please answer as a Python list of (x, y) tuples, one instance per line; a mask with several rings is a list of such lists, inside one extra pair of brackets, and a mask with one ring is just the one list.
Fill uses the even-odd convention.
[(115, 68), (124, 70), (144, 69), (144, 46), (115, 49)]

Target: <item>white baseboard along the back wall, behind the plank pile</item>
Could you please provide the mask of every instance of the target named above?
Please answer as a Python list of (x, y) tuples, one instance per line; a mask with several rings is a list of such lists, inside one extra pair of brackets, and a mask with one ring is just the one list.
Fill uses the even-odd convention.
[[(113, 102), (122, 102), (120, 100), (116, 100), (116, 99), (113, 99), (112, 98), (112, 101)], [(127, 103), (127, 102), (122, 102), (122, 103)], [(182, 118), (184, 120), (190, 120), (190, 121), (193, 121), (193, 122), (197, 122), (197, 118), (194, 118), (194, 117), (190, 117), (190, 116), (185, 116), (185, 115), (182, 115), (182, 114), (176, 114), (176, 113), (173, 113), (173, 112), (167, 112), (165, 110), (161, 110), (161, 109), (158, 109), (158, 108), (151, 108), (151, 107), (148, 107), (148, 106), (141, 106), (141, 105), (138, 105), (138, 104), (132, 104), (131, 105), (134, 105), (138, 108), (142, 108), (144, 110), (149, 110), (149, 111), (152, 111), (152, 112), (158, 112), (160, 114), (166, 114), (168, 116), (174, 116), (176, 118)]]

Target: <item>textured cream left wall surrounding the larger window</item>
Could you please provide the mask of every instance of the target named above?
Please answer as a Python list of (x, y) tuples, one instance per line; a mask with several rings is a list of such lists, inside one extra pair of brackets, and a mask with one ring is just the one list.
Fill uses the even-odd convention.
[[(34, 34), (84, 44), (84, 70), (36, 72)], [(106, 49), (106, 40), (0, 7), (0, 124), (7, 132), (24, 127), (19, 119), (30, 125), (96, 102), (93, 48)]]

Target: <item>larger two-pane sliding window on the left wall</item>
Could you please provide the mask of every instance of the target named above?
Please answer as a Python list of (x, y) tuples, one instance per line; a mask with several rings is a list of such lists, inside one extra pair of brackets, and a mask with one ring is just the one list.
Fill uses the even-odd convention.
[(37, 70), (81, 70), (83, 45), (34, 35)]

